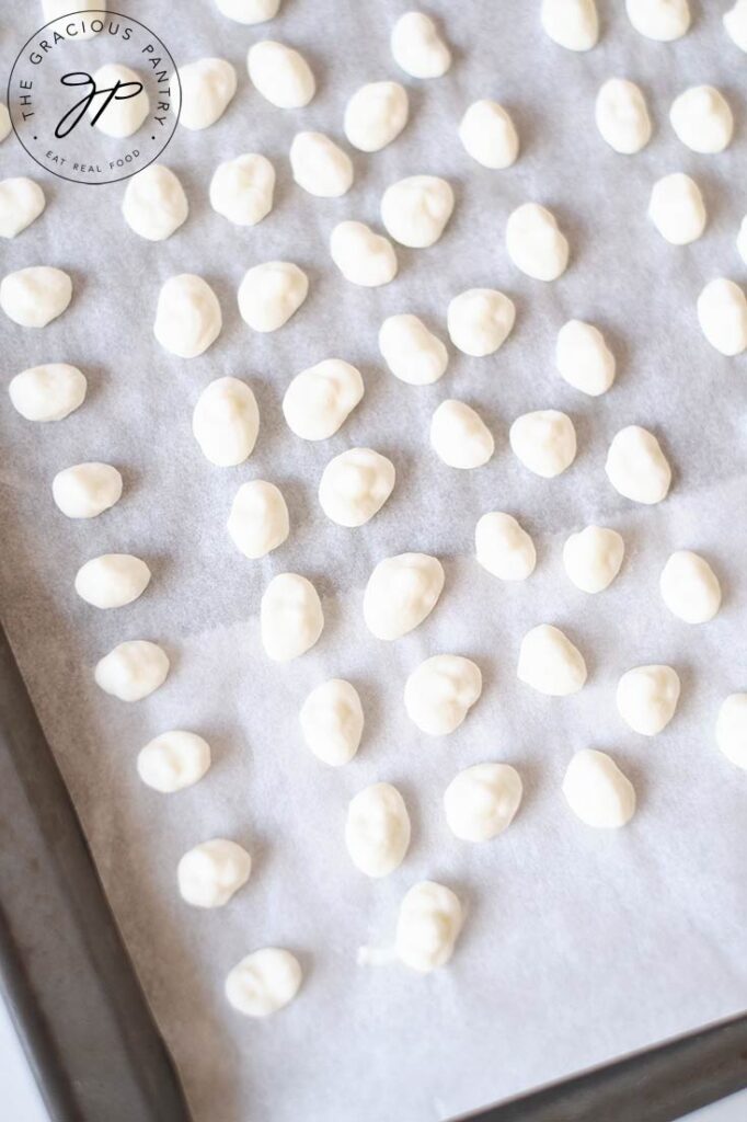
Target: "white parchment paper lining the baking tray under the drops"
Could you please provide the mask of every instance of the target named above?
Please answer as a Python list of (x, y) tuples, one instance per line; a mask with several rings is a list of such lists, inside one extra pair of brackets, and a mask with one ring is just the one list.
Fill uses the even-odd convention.
[[(3, 247), (4, 272), (50, 264), (75, 284), (71, 309), (44, 331), (3, 321), (3, 383), (28, 366), (68, 361), (90, 386), (86, 404), (61, 424), (27, 423), (7, 399), (0, 408), (0, 591), (197, 1122), (329, 1122), (351, 1109), (362, 1122), (443, 1118), (743, 1010), (746, 785), (716, 751), (712, 726), (721, 698), (747, 688), (747, 361), (717, 355), (694, 313), (711, 277), (746, 279), (734, 243), (747, 209), (745, 57), (720, 26), (726, 6), (693, 4), (691, 34), (662, 45), (640, 38), (621, 6), (600, 3), (601, 43), (577, 56), (543, 36), (535, 4), (432, 3), (455, 62), (428, 83), (397, 73), (389, 56), (404, 2), (286, 0), (276, 21), (255, 29), (222, 19), (208, 0), (120, 7), (181, 62), (231, 59), (239, 92), (218, 125), (179, 129), (167, 149), (191, 215), (159, 245), (125, 224), (121, 184), (63, 183), (12, 137), (0, 148), (2, 175), (38, 178), (48, 200), (45, 215)], [(6, 72), (34, 16), (28, 7), (6, 13)], [(312, 62), (319, 93), (307, 109), (274, 109), (250, 88), (246, 48), (266, 36)], [(649, 100), (655, 134), (636, 157), (611, 151), (593, 126), (596, 91), (612, 75), (639, 82)], [(347, 96), (385, 77), (408, 86), (406, 131), (382, 153), (353, 157), (357, 183), (344, 199), (304, 194), (287, 165), (295, 132), (340, 138)], [(718, 157), (690, 153), (667, 123), (672, 98), (701, 82), (719, 85), (735, 109), (735, 141)], [(523, 155), (507, 172), (478, 167), (455, 139), (479, 96), (500, 100), (517, 122)], [(276, 166), (276, 206), (241, 231), (211, 211), (208, 184), (220, 160), (252, 150)], [(701, 241), (684, 249), (660, 239), (645, 215), (651, 185), (672, 171), (694, 175), (710, 215)], [(398, 249), (400, 273), (386, 288), (354, 288), (330, 261), (332, 227), (343, 218), (376, 224), (384, 187), (421, 172), (454, 185), (446, 233), (428, 250)], [(551, 206), (571, 242), (571, 266), (550, 286), (518, 274), (504, 248), (506, 218), (528, 200)], [(258, 335), (234, 293), (248, 267), (276, 258), (304, 267), (311, 293), (282, 331)], [(223, 309), (220, 340), (192, 361), (164, 352), (150, 331), (159, 287), (179, 272), (203, 275)], [(451, 296), (479, 285), (516, 302), (501, 351), (469, 359), (452, 349), (432, 387), (394, 379), (376, 344), (385, 315), (415, 312), (444, 335)], [(554, 370), (555, 333), (570, 318), (598, 323), (618, 356), (618, 380), (602, 399), (577, 394)], [(285, 427), (283, 392), (330, 356), (360, 367), (366, 397), (334, 438), (306, 444)], [(230, 470), (211, 467), (191, 434), (194, 402), (222, 375), (246, 377), (261, 411), (255, 454)], [(450, 470), (427, 449), (430, 415), (448, 396), (476, 405), (494, 427), (496, 457), (479, 471)], [(574, 466), (553, 481), (529, 477), (508, 448), (510, 421), (542, 407), (569, 412), (579, 433)], [(611, 436), (630, 423), (653, 427), (674, 466), (671, 497), (653, 509), (619, 497), (603, 473)], [(328, 460), (354, 444), (388, 454), (398, 485), (369, 525), (345, 531), (326, 522), (315, 488)], [(117, 465), (126, 491), (101, 518), (75, 524), (54, 507), (49, 485), (84, 459)], [(236, 489), (251, 478), (278, 484), (292, 518), (286, 545), (260, 562), (238, 554), (224, 530)], [(535, 535), (537, 571), (516, 588), (471, 557), (488, 509), (516, 514)], [(568, 533), (591, 521), (618, 528), (627, 545), (619, 579), (594, 598), (570, 585), (561, 562)], [(675, 620), (660, 599), (658, 572), (680, 548), (702, 552), (721, 577), (723, 608), (707, 626)], [(362, 589), (380, 558), (404, 550), (441, 557), (446, 587), (421, 628), (385, 645), (362, 624)], [(109, 551), (145, 558), (154, 580), (136, 604), (102, 614), (77, 599), (73, 578)], [(312, 652), (277, 668), (261, 650), (257, 614), (262, 589), (285, 570), (315, 581), (326, 626)], [(587, 657), (589, 683), (573, 698), (542, 698), (516, 681), (520, 637), (543, 622), (566, 628)], [(91, 674), (103, 653), (135, 637), (162, 642), (172, 674), (126, 706), (102, 696)], [(402, 706), (407, 673), (437, 652), (469, 655), (485, 675), (479, 705), (443, 742), (421, 736)], [(677, 669), (683, 695), (672, 725), (646, 741), (619, 720), (615, 686), (629, 666), (657, 661)], [(342, 770), (322, 769), (297, 726), (308, 690), (333, 675), (353, 681), (367, 714), (360, 754)], [(166, 798), (142, 787), (135, 757), (172, 727), (206, 736), (214, 766)], [(622, 831), (589, 830), (564, 806), (564, 767), (584, 746), (611, 751), (637, 787), (639, 811)], [(525, 801), (504, 837), (462, 845), (445, 827), (441, 795), (458, 770), (490, 758), (518, 767)], [(352, 868), (342, 842), (349, 798), (378, 780), (400, 787), (414, 827), (407, 861), (382, 883)], [(179, 900), (175, 866), (216, 835), (247, 844), (255, 872), (227, 908), (200, 913)], [(427, 978), (358, 966), (361, 944), (390, 944), (398, 902), (424, 876), (452, 885), (468, 908), (452, 965)], [(225, 1005), (223, 977), (273, 944), (297, 953), (303, 991), (267, 1023), (246, 1021)]]

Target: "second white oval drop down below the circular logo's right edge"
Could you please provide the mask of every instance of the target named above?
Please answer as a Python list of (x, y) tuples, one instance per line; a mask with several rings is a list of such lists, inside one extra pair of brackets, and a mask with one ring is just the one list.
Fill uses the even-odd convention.
[(164, 350), (196, 358), (212, 347), (222, 327), (218, 296), (202, 277), (182, 273), (160, 289), (153, 330)]

